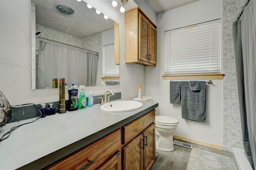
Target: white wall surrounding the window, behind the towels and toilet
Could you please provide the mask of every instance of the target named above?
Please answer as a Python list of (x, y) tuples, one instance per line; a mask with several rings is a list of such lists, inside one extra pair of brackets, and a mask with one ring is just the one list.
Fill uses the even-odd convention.
[(207, 84), (206, 122), (182, 119), (181, 106), (170, 104), (170, 80), (162, 80), (165, 57), (164, 31), (218, 18), (222, 18), (221, 0), (200, 0), (157, 14), (157, 64), (156, 68), (146, 67), (146, 95), (152, 96), (153, 101), (159, 103), (159, 107), (156, 108), (157, 115), (178, 119), (179, 126), (175, 135), (223, 146), (223, 80), (212, 80), (213, 84)]

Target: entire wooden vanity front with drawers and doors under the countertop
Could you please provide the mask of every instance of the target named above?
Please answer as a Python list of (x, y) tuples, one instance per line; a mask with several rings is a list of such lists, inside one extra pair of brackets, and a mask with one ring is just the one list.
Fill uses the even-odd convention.
[(49, 170), (150, 170), (155, 163), (155, 110), (70, 154)]

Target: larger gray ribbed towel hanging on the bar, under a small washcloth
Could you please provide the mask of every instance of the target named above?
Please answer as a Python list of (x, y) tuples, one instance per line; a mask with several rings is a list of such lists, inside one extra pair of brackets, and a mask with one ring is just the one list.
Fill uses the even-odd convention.
[(206, 121), (206, 82), (200, 81), (200, 90), (191, 91), (188, 82), (181, 83), (182, 119)]

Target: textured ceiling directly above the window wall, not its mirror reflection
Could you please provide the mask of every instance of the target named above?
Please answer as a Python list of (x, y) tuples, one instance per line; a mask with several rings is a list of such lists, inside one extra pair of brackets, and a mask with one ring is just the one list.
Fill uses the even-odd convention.
[(156, 14), (196, 2), (198, 0), (147, 0)]

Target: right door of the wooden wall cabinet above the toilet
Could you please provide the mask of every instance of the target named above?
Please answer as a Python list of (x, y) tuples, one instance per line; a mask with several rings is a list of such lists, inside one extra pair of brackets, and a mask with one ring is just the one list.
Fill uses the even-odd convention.
[(149, 63), (156, 64), (156, 28), (149, 27)]

